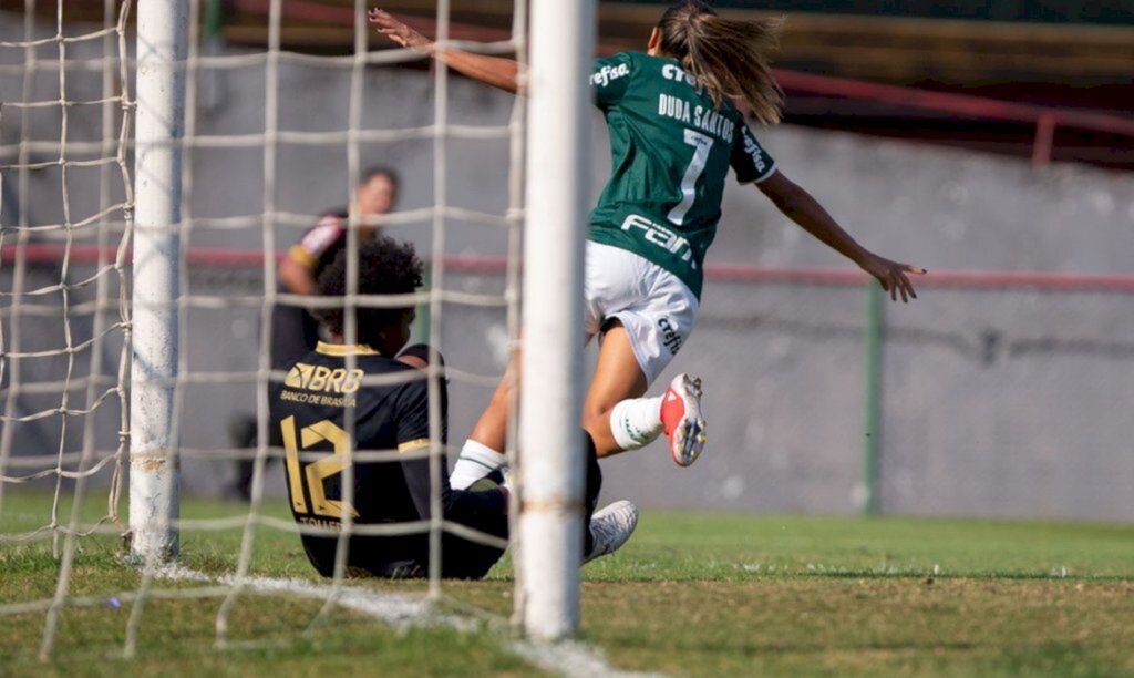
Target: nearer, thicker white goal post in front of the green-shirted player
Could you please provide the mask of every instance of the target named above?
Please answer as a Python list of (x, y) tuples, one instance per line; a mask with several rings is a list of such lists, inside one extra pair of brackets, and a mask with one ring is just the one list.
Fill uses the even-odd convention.
[(583, 235), (590, 194), (587, 75), (594, 0), (533, 0), (524, 230), (519, 449), (521, 596), (525, 632), (578, 629)]

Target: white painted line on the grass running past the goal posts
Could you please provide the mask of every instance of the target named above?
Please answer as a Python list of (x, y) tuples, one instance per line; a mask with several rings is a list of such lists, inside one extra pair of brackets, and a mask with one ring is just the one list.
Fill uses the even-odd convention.
[[(161, 567), (156, 571), (156, 577), (183, 582), (211, 582), (229, 586), (236, 584), (236, 577), (231, 575), (214, 578), (180, 565)], [(331, 586), (328, 584), (274, 577), (245, 577), (244, 586), (263, 593), (284, 593), (316, 600), (327, 600), (331, 593)], [(342, 586), (339, 588), (337, 602), (344, 608), (378, 619), (398, 630), (414, 626), (448, 626), (468, 633), (480, 626), (475, 619), (431, 610), (429, 601), (422, 596), (380, 593), (361, 586)], [(557, 644), (511, 641), (505, 643), (503, 647), (545, 671), (553, 671), (567, 678), (657, 676), (657, 673), (617, 671), (607, 663), (601, 652), (574, 641)]]

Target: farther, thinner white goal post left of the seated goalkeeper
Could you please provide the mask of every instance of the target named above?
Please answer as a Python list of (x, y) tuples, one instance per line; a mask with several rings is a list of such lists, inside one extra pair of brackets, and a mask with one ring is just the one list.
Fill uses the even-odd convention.
[(175, 383), (181, 255), (176, 228), (188, 25), (188, 0), (138, 2), (129, 524), (130, 548), (141, 559), (174, 557), (179, 546)]

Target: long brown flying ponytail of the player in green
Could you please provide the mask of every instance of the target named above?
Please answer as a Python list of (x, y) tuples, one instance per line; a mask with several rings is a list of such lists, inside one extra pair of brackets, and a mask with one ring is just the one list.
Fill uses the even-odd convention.
[(682, 61), (719, 108), (743, 99), (764, 125), (780, 120), (784, 91), (772, 77), (770, 56), (779, 49), (780, 17), (727, 19), (701, 0), (683, 0), (661, 16), (661, 49)]

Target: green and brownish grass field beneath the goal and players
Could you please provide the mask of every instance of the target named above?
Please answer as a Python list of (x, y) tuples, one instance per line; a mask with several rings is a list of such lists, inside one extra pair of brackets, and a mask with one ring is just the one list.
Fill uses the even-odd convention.
[[(92, 502), (92, 518), (98, 516)], [(66, 507), (64, 507), (66, 509)], [(185, 518), (240, 515), (187, 500)], [(5, 497), (0, 533), (37, 527), (50, 500)], [(286, 517), (272, 502), (269, 515)], [(62, 514), (67, 515), (67, 514)], [(183, 562), (230, 574), (242, 532), (186, 532)], [(295, 534), (257, 528), (255, 575), (316, 580)], [(49, 599), (50, 542), (0, 544), (0, 605)], [(119, 659), (136, 590), (111, 535), (87, 537), (52, 661), (36, 660), (45, 613), (0, 617), (0, 676), (500, 675), (544, 671), (509, 651), (507, 561), (484, 582), (445, 584), (499, 622), (392, 628), (314, 600), (249, 593), (214, 649), (221, 599), (150, 600), (138, 654)], [(1134, 526), (937, 519), (726, 516), (646, 510), (618, 554), (583, 571), (583, 641), (615, 669), (684, 676), (1131, 676)], [(163, 591), (204, 584), (160, 580)], [(352, 586), (418, 595), (421, 583)], [(450, 604), (445, 607), (449, 608)], [(468, 617), (468, 619), (475, 619)], [(255, 641), (249, 649), (240, 643)]]

